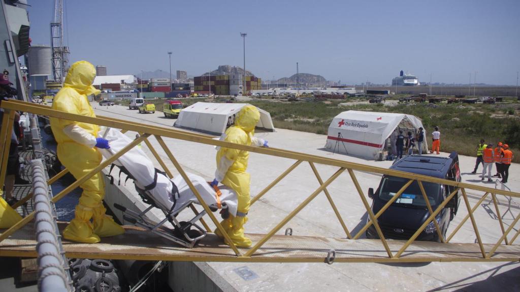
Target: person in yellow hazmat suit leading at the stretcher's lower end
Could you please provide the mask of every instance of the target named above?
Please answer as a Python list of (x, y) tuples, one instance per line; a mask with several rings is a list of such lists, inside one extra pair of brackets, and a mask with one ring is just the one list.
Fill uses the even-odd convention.
[[(258, 109), (253, 105), (246, 105), (238, 113), (235, 125), (229, 127), (225, 134), (220, 137), (220, 140), (248, 146), (268, 147), (266, 140), (253, 137), (255, 125), (259, 119)], [(248, 220), (247, 215), (251, 204), (249, 195), (250, 176), (248, 172), (245, 172), (248, 168), (248, 160), (248, 151), (218, 148), (217, 170), (215, 171), (215, 179), (211, 182), (212, 186), (222, 182), (237, 193), (237, 217), (230, 215), (221, 224), (231, 241), (239, 247), (251, 246), (251, 240), (244, 236), (244, 224)], [(215, 230), (215, 233), (220, 238), (224, 237), (218, 230)]]

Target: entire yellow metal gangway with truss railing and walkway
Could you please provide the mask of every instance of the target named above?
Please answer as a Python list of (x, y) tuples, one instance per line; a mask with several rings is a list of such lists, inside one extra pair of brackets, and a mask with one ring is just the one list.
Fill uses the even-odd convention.
[[(281, 150), (275, 148), (258, 148), (249, 147), (245, 145), (239, 145), (234, 143), (228, 143), (220, 140), (212, 139), (211, 136), (194, 134), (192, 132), (180, 131), (171, 128), (155, 127), (149, 125), (143, 125), (139, 123), (133, 123), (123, 120), (118, 120), (109, 117), (85, 117), (81, 115), (75, 115), (65, 113), (61, 111), (55, 111), (48, 107), (37, 105), (34, 103), (23, 102), (23, 101), (3, 101), (2, 108), (5, 110), (5, 115), (2, 121), (1, 131), (1, 143), (4, 145), (2, 151), (2, 168), (0, 173), (0, 185), (3, 185), (7, 156), (9, 153), (9, 130), (8, 125), (12, 125), (14, 120), (15, 111), (29, 112), (37, 115), (45, 115), (49, 117), (62, 118), (65, 120), (78, 121), (83, 123), (97, 124), (100, 126), (107, 126), (112, 128), (121, 129), (122, 131), (137, 131), (141, 134), (139, 138), (128, 144), (127, 147), (116, 153), (108, 160), (103, 161), (98, 167), (92, 172), (86, 174), (79, 180), (75, 181), (69, 187), (58, 193), (52, 198), (53, 202), (59, 201), (63, 196), (67, 195), (71, 190), (79, 187), (79, 185), (86, 181), (88, 178), (93, 176), (95, 173), (109, 166), (119, 156), (127, 152), (128, 150), (135, 147), (141, 141), (145, 141), (148, 148), (150, 149), (153, 156), (158, 160), (161, 167), (164, 169), (166, 174), (172, 177), (172, 173), (167, 169), (166, 164), (162, 161), (162, 158), (158, 152), (152, 147), (148, 138), (154, 136), (162, 147), (168, 158), (170, 158), (173, 165), (176, 167), (180, 176), (182, 176), (187, 182), (190, 189), (197, 196), (201, 206), (210, 217), (211, 221), (225, 235), (226, 240), (229, 240), (226, 232), (224, 232), (222, 225), (219, 220), (212, 213), (210, 208), (201, 199), (200, 194), (193, 187), (191, 182), (188, 180), (186, 172), (177, 162), (174, 154), (168, 149), (163, 137), (180, 139), (185, 141), (191, 141), (196, 143), (204, 143), (210, 145), (216, 145), (220, 147), (234, 148), (239, 150), (246, 150), (250, 152), (273, 155), (278, 157), (290, 158), (296, 162), (285, 170), (279, 177), (272, 181), (264, 190), (259, 192), (254, 198), (252, 198), (251, 204), (253, 205), (263, 195), (265, 195), (272, 187), (274, 187), (280, 180), (290, 174), (297, 166), (306, 162), (313, 170), (317, 181), (320, 186), (308, 195), (290, 214), (283, 218), (272, 230), (267, 234), (248, 234), (253, 241), (251, 248), (237, 248), (234, 244), (225, 245), (219, 238), (209, 233), (204, 237), (198, 245), (193, 248), (184, 248), (180, 245), (176, 245), (171, 241), (167, 241), (164, 238), (155, 235), (151, 232), (145, 231), (137, 227), (125, 227), (126, 232), (123, 235), (102, 238), (102, 242), (98, 244), (82, 244), (74, 243), (63, 240), (63, 247), (66, 255), (71, 258), (105, 258), (105, 259), (134, 259), (134, 260), (168, 260), (168, 261), (229, 261), (229, 262), (429, 262), (429, 261), (519, 261), (520, 260), (520, 246), (513, 244), (520, 233), (514, 229), (515, 224), (518, 222), (520, 215), (512, 215), (513, 219), (509, 226), (505, 224), (500, 215), (498, 203), (498, 196), (507, 197), (520, 197), (519, 193), (504, 191), (499, 189), (492, 189), (482, 187), (479, 185), (473, 185), (469, 183), (456, 182), (445, 179), (438, 179), (428, 176), (410, 174), (408, 172), (396, 171), (392, 169), (379, 168), (369, 165), (363, 165), (358, 163), (345, 162), (335, 160), (327, 157), (320, 157), (316, 155), (309, 155), (305, 153), (293, 152), (288, 150)], [(210, 162), (208, 162), (210, 163)], [(337, 167), (334, 174), (323, 181), (321, 178), (316, 164), (328, 165)], [(395, 177), (401, 177), (408, 179), (408, 182), (397, 192), (391, 200), (377, 213), (373, 214), (370, 204), (367, 201), (365, 194), (361, 190), (360, 184), (357, 180), (354, 171), (370, 172), (379, 175), (392, 175)], [(48, 183), (51, 184), (68, 171), (67, 169), (59, 172), (58, 175), (51, 178)], [(340, 215), (340, 211), (332, 200), (332, 196), (327, 190), (328, 185), (331, 184), (336, 178), (342, 175), (344, 172), (348, 173), (348, 176), (352, 179), (359, 198), (365, 206), (369, 221), (365, 226), (357, 232), (357, 234), (351, 234), (345, 224), (345, 221)], [(386, 210), (405, 189), (412, 182), (417, 181), (420, 190), (424, 197), (424, 201), (427, 204), (427, 208), (430, 211), (430, 216), (421, 225), (421, 227), (415, 231), (409, 240), (385, 240), (381, 227), (378, 223), (377, 218)], [(453, 191), (446, 197), (446, 199), (435, 209), (432, 209), (423, 187), (423, 182), (433, 182), (453, 187)], [(467, 190), (482, 193), (479, 196), (478, 202), (471, 206), (468, 200)], [(467, 209), (467, 215), (459, 223), (459, 225), (453, 230), (453, 232), (443, 237), (439, 226), (434, 220), (437, 214), (448, 204), (448, 202), (461, 192), (464, 206)], [(277, 235), (276, 233), (282, 229), (293, 217), (296, 216), (305, 206), (316, 198), (320, 193), (324, 193), (327, 200), (330, 203), (331, 208), (334, 211), (337, 220), (342, 226), (345, 232), (345, 237), (339, 238), (327, 238), (327, 237), (316, 237), (316, 236), (295, 236), (295, 235)], [(474, 211), (480, 204), (490, 199), (490, 202), (495, 206), (496, 217), (498, 221), (496, 226), (497, 230), (500, 228), (501, 236), (496, 243), (485, 244), (482, 242), (480, 234), (478, 232), (479, 224), (487, 224), (486, 222), (477, 222), (474, 217)], [(21, 200), (17, 205), (23, 204), (23, 202), (30, 200), (30, 195)], [(507, 201), (507, 200), (505, 200)], [(462, 202), (461, 202), (462, 205)], [(194, 213), (198, 213), (197, 209), (191, 206)], [(7, 230), (2, 230), (0, 235), (0, 256), (16, 256), (16, 257), (36, 257), (34, 241), (34, 229), (29, 223), (34, 218), (34, 213), (24, 217), (17, 224)], [(462, 227), (462, 225), (470, 219), (473, 226), (473, 231), (476, 237), (475, 242), (469, 243), (450, 243), (451, 238), (456, 234)], [(426, 225), (430, 222), (434, 223), (436, 232), (441, 240), (441, 243), (436, 242), (421, 242), (415, 241), (419, 234), (425, 229)], [(204, 220), (201, 220), (204, 228), (210, 231), (209, 226)], [(65, 223), (60, 224), (60, 228), (64, 228)], [(367, 228), (373, 224), (376, 232), (379, 234), (380, 239), (361, 239), (360, 235), (367, 230)], [(504, 226), (505, 225), (505, 226)], [(483, 226), (483, 225), (481, 225)], [(513, 230), (513, 232), (511, 232)], [(287, 233), (287, 232), (286, 232)], [(512, 235), (512, 236), (511, 236)]]

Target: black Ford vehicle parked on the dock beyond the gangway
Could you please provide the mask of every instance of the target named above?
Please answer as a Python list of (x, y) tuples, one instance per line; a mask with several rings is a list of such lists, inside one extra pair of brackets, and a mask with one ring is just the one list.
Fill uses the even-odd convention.
[[(390, 169), (453, 181), (461, 180), (459, 156), (457, 152), (452, 152), (448, 157), (428, 155), (405, 156), (395, 161)], [(378, 213), (386, 202), (388, 202), (408, 180), (407, 178), (384, 175), (375, 192), (370, 188), (368, 190), (368, 196), (373, 200), (373, 213)], [(428, 201), (430, 201), (434, 211), (454, 190), (454, 187), (451, 185), (433, 182), (423, 182), (422, 184)], [(446, 237), (448, 225), (457, 214), (459, 204), (460, 192), (457, 192), (435, 218), (443, 237)], [(381, 214), (378, 218), (378, 223), (385, 238), (408, 240), (428, 217), (430, 217), (430, 212), (426, 207), (426, 202), (419, 188), (419, 184), (417, 181), (414, 181), (402, 192), (400, 197)], [(373, 224), (367, 229), (366, 234), (368, 238), (379, 238)], [(426, 225), (426, 228), (419, 234), (417, 240), (440, 241), (433, 221)]]

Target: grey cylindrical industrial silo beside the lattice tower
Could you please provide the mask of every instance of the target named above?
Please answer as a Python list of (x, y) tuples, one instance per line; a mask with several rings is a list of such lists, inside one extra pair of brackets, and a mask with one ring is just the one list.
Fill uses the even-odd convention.
[(49, 46), (34, 45), (29, 49), (29, 78), (33, 90), (45, 90), (45, 81), (53, 74), (51, 62), (51, 49)]

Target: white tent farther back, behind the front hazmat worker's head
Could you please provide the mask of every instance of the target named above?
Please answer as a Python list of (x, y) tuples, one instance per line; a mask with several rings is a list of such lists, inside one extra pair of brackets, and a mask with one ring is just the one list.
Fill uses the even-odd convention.
[[(180, 111), (174, 126), (220, 136), (226, 131), (228, 119), (233, 120), (234, 115), (240, 112), (245, 105), (248, 103), (197, 102)], [(269, 112), (262, 109), (258, 109), (258, 111), (260, 120), (256, 124), (256, 128), (274, 131), (275, 127)]]

